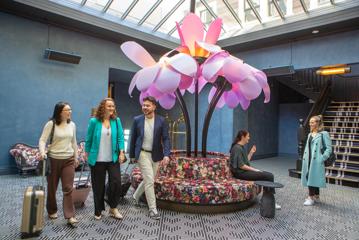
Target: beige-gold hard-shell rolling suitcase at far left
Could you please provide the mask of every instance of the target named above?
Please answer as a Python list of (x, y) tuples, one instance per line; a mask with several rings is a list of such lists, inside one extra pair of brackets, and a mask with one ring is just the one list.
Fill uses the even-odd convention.
[[(43, 160), (47, 164), (47, 159)], [(44, 228), (45, 166), (42, 169), (42, 185), (27, 187), (24, 194), (21, 220), (21, 238), (39, 236)]]

